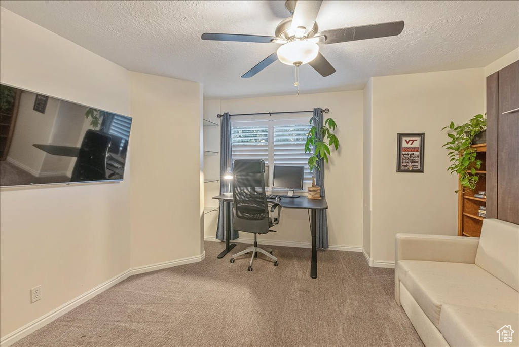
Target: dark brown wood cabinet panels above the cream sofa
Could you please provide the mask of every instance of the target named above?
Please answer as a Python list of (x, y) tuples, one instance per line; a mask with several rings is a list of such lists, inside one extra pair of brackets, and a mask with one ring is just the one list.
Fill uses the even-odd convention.
[(519, 224), (519, 61), (487, 77), (488, 218)]

